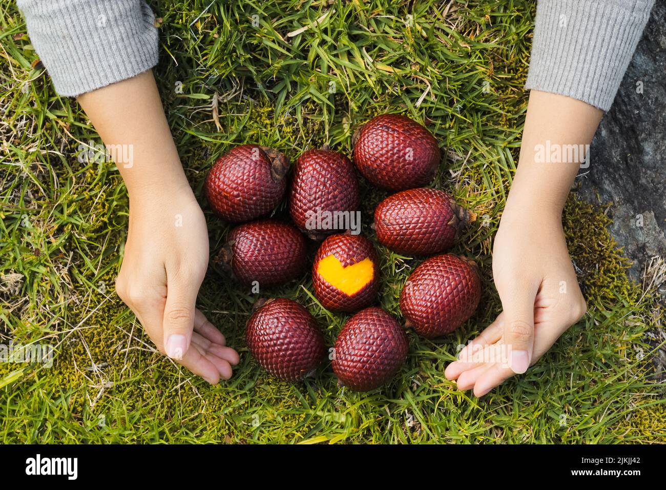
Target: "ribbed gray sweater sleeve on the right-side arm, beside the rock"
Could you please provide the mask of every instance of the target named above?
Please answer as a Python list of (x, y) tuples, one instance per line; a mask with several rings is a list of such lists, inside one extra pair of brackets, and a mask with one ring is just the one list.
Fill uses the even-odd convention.
[(539, 0), (525, 89), (610, 109), (654, 0)]

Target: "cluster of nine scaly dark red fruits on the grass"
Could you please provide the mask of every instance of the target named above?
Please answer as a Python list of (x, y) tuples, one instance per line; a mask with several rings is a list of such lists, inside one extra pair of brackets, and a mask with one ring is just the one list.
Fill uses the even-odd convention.
[[(474, 313), (481, 283), (473, 261), (444, 253), (470, 222), (470, 213), (447, 193), (424, 187), (440, 163), (440, 149), (428, 130), (402, 115), (380, 115), (356, 131), (353, 145), (354, 164), (327, 147), (304, 152), (290, 185), (282, 153), (241, 145), (216, 161), (205, 191), (222, 219), (247, 222), (232, 229), (214, 259), (242, 285), (270, 287), (297, 279), (306, 269), (306, 236), (323, 239), (312, 265), (314, 295), (330, 311), (358, 312), (338, 335), (332, 368), (341, 385), (366, 391), (394, 377), (408, 341), (394, 317), (370, 306), (379, 289), (372, 242), (348, 230), (341, 233), (340, 218), (359, 206), (354, 165), (370, 183), (397, 191), (375, 210), (372, 229), (379, 243), (407, 255), (440, 254), (416, 267), (400, 293), (406, 327), (427, 338), (454, 331)], [(285, 193), (293, 224), (262, 219)], [(310, 375), (326, 357), (316, 321), (290, 299), (257, 301), (246, 339), (260, 365), (285, 381)]]

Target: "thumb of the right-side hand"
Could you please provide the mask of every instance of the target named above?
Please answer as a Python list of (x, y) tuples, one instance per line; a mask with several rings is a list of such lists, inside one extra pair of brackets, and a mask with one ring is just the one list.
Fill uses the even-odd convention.
[(500, 295), (504, 310), (504, 344), (511, 356), (509, 367), (516, 374), (527, 371), (534, 347), (534, 300), (537, 291), (526, 285), (521, 286), (507, 295)]

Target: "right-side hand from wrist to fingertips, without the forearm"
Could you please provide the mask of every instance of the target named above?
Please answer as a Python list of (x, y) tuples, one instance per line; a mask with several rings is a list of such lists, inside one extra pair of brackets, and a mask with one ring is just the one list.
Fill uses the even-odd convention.
[(445, 371), (477, 397), (524, 373), (586, 309), (557, 208), (519, 201), (509, 197), (493, 247), (503, 311)]

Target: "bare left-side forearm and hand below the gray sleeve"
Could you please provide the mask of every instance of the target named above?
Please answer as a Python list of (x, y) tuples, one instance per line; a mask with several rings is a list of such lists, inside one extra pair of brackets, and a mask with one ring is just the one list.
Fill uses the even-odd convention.
[(206, 221), (180, 165), (153, 73), (78, 99), (107, 148), (122, 149), (115, 161), (130, 215), (118, 295), (161, 353), (210, 383), (228, 379), (238, 353), (224, 346), (224, 336), (195, 306), (208, 266)]

